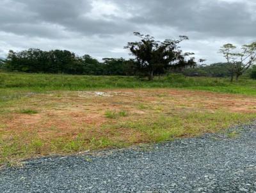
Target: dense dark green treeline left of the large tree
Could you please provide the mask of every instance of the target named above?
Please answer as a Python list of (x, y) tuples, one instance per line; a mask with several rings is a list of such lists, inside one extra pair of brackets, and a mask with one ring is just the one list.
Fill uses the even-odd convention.
[(12, 72), (134, 75), (136, 62), (124, 58), (104, 58), (99, 62), (87, 54), (79, 57), (68, 50), (28, 49), (20, 52), (10, 50), (6, 61), (0, 65)]

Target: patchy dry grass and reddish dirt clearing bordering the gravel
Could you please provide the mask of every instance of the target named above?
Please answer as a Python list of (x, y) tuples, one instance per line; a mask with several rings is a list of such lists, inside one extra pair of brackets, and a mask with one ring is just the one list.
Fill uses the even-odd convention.
[(253, 96), (179, 89), (52, 91), (1, 108), (2, 164), (217, 132), (256, 118)]

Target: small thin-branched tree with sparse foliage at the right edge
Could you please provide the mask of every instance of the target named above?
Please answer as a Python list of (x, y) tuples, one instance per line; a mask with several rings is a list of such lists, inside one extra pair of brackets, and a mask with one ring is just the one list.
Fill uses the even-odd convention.
[(238, 81), (238, 78), (256, 63), (256, 42), (243, 45), (240, 51), (236, 50), (235, 45), (227, 43), (221, 47), (220, 53), (227, 59), (230, 82), (233, 82), (235, 75)]

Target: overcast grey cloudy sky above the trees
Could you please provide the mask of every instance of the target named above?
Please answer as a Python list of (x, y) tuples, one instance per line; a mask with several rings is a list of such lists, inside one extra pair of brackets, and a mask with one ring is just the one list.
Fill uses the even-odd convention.
[(182, 49), (223, 61), (224, 43), (256, 41), (255, 0), (1, 0), (0, 57), (8, 50), (67, 49), (93, 58), (131, 58), (134, 31), (157, 40), (189, 36)]

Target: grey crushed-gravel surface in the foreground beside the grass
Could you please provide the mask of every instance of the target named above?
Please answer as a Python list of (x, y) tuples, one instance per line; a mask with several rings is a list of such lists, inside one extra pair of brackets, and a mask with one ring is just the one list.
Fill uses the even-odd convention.
[[(236, 130), (238, 134), (228, 135)], [(0, 192), (256, 192), (256, 123), (225, 134), (29, 160)]]

